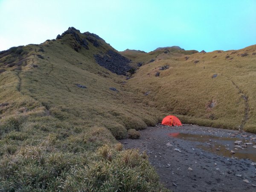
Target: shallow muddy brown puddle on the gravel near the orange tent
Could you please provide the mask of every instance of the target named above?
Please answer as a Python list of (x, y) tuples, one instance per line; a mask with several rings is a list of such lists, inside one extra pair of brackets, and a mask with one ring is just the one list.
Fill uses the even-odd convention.
[[(184, 134), (184, 133), (170, 133), (170, 137), (175, 137), (183, 140), (189, 140), (192, 142), (197, 142), (198, 148), (204, 151), (209, 151), (224, 157), (237, 157), (238, 159), (250, 159), (256, 162), (256, 148), (253, 148), (255, 141), (230, 138), (230, 137), (215, 137), (212, 135), (196, 135), (196, 134)], [(235, 141), (242, 141), (241, 145), (244, 143), (253, 143), (253, 145), (246, 145), (247, 147), (235, 147)], [(241, 146), (240, 145), (240, 146)], [(237, 148), (237, 149), (235, 149)], [(216, 150), (217, 149), (217, 150)], [(219, 150), (218, 150), (219, 149)], [(231, 154), (230, 151), (235, 151), (235, 154)]]

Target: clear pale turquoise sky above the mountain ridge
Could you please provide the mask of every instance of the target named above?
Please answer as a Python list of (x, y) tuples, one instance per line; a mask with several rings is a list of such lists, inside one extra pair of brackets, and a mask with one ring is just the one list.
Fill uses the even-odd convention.
[(0, 0), (0, 50), (53, 39), (69, 26), (115, 49), (256, 44), (256, 0)]

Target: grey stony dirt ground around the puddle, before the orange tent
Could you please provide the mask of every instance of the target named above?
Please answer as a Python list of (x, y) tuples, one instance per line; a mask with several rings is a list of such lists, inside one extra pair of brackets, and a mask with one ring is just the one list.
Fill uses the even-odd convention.
[[(200, 142), (171, 136), (175, 136), (172, 133), (180, 133), (198, 134), (202, 137), (214, 136), (213, 138), (233, 137), (233, 140), (243, 139), (255, 144), (256, 140), (251, 139), (256, 137), (255, 135), (246, 133), (247, 136), (242, 137), (244, 133), (239, 134), (238, 131), (197, 125), (184, 125), (182, 128), (158, 125), (158, 127), (148, 127), (140, 133), (141, 137), (138, 140), (125, 139), (120, 142), (125, 148), (139, 148), (141, 151), (146, 151), (150, 163), (167, 188), (179, 192), (256, 191), (256, 167), (252, 165), (252, 160), (231, 157), (231, 148), (228, 150), (230, 157), (216, 154), (215, 148), (223, 148), (224, 145), (214, 146), (210, 144), (209, 139), (208, 142)], [(204, 145), (214, 146), (214, 151), (203, 150)], [(175, 148), (180, 152), (175, 151)], [(189, 171), (189, 168), (192, 170)], [(249, 183), (245, 182), (247, 180)]]

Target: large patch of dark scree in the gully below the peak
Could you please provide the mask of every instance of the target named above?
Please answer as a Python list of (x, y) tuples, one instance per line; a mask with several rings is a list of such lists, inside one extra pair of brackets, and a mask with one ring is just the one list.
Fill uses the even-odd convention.
[(131, 60), (112, 50), (108, 50), (105, 55), (94, 55), (94, 58), (97, 64), (117, 75), (126, 75), (131, 69)]

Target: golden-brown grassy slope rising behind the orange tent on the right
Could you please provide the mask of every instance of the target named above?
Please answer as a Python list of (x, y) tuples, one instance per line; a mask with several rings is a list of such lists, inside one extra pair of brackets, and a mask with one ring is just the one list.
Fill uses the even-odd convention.
[[(256, 133), (255, 45), (192, 55), (164, 51), (134, 52), (132, 58), (144, 65), (128, 81), (127, 90), (137, 92), (145, 104), (163, 113), (177, 114), (183, 122), (230, 129), (240, 126)], [(243, 53), (248, 55), (242, 57)], [(151, 58), (155, 61), (148, 63)], [(164, 65), (169, 69), (159, 70)], [(212, 78), (214, 74), (218, 76)]]

